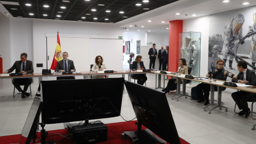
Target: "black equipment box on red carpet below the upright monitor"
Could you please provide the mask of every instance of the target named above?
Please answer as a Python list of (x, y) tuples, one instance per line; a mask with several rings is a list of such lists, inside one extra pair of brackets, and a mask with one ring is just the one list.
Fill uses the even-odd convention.
[(75, 143), (95, 143), (107, 140), (108, 127), (103, 123), (76, 125), (71, 128), (68, 125), (69, 133), (73, 134)]

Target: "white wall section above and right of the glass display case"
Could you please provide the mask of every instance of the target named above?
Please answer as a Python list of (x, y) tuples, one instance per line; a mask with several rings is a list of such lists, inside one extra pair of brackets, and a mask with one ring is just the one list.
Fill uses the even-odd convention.
[(183, 32), (189, 31), (201, 32), (200, 76), (205, 76), (208, 73), (209, 15), (183, 20)]

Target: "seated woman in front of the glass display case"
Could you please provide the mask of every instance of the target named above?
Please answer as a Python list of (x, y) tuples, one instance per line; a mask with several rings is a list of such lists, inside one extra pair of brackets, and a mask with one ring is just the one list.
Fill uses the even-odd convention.
[[(177, 73), (188, 75), (188, 66), (185, 59), (179, 60), (179, 67), (178, 67)], [(162, 91), (164, 93), (167, 93), (167, 92), (169, 93), (170, 91), (174, 91), (176, 89), (177, 89), (177, 79), (171, 78), (167, 86), (165, 87), (165, 89), (163, 89)]]

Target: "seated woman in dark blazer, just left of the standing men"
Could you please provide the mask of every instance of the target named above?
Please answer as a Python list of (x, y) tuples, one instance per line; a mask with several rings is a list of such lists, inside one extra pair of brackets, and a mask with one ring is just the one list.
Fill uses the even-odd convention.
[[(135, 61), (132, 62), (132, 69), (146, 69), (141, 58), (141, 55), (137, 55)], [(143, 85), (148, 79), (146, 74), (133, 74), (133, 76), (135, 79), (138, 79), (137, 83), (140, 85)]]

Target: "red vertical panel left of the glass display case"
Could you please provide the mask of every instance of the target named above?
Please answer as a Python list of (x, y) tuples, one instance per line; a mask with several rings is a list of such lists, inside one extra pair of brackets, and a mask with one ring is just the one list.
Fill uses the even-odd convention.
[(182, 33), (183, 20), (169, 21), (169, 61), (168, 70), (177, 71), (179, 64), (179, 33)]

